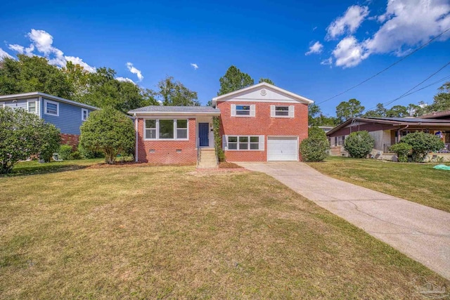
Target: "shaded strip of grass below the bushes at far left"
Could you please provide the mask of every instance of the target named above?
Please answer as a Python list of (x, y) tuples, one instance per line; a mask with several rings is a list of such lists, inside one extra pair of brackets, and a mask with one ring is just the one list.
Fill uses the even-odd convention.
[(97, 164), (98, 162), (98, 159), (45, 163), (39, 163), (36, 161), (20, 162), (15, 165), (15, 167), (9, 174), (2, 174), (0, 175), (0, 178), (75, 171), (79, 169), (85, 169), (87, 167), (90, 167), (92, 164)]

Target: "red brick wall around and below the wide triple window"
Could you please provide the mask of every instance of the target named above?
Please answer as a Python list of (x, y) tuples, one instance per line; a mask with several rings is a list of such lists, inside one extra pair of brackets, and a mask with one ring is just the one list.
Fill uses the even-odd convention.
[[(157, 164), (196, 164), (195, 119), (188, 121), (188, 141), (144, 141), (143, 119), (138, 119), (138, 162)], [(155, 152), (150, 153), (150, 150)], [(181, 152), (176, 152), (181, 150)]]

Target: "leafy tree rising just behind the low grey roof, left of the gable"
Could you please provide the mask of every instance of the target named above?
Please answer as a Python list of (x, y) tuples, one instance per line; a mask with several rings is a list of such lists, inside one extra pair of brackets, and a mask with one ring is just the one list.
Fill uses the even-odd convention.
[(162, 105), (169, 106), (200, 106), (196, 91), (186, 88), (181, 82), (174, 81), (174, 77), (166, 77), (158, 82), (158, 95)]

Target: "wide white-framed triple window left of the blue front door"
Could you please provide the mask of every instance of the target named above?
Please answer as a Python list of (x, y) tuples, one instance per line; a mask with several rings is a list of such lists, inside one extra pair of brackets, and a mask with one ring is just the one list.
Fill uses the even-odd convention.
[(188, 140), (188, 119), (145, 119), (145, 140)]

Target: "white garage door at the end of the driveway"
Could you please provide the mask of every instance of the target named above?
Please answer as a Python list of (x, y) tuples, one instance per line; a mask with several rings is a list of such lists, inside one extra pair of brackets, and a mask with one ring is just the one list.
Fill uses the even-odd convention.
[(297, 137), (269, 136), (267, 160), (298, 160)]

